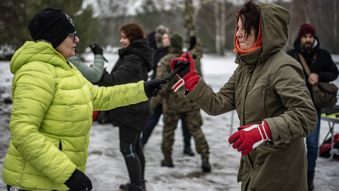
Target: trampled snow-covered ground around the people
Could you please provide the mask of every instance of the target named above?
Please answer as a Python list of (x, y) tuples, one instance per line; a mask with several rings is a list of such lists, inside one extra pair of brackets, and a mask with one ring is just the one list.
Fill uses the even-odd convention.
[[(109, 60), (107, 71), (111, 71), (117, 61), (117, 54), (105, 54)], [(93, 61), (93, 54), (88, 54), (88, 62)], [(234, 54), (218, 57), (213, 54), (205, 54), (201, 60), (204, 79), (215, 90), (230, 78), (237, 67), (234, 64)], [(8, 62), (0, 62), (0, 168), (4, 162), (4, 156), (8, 148), (10, 133), (8, 130), (11, 105), (5, 105), (2, 100), (11, 96), (11, 79)], [(335, 81), (339, 86), (339, 80)], [(239, 126), (239, 120), (234, 112), (228, 112), (219, 116), (203, 115), (203, 132), (210, 146), (211, 173), (201, 173), (201, 158), (196, 156), (184, 156), (182, 128), (175, 132), (172, 158), (174, 168), (160, 166), (162, 153), (160, 144), (162, 140), (162, 122), (155, 127), (153, 134), (144, 147), (146, 166), (145, 179), (148, 191), (167, 190), (204, 190), (204, 191), (237, 191), (240, 183), (237, 183), (237, 170), (240, 154), (228, 144), (228, 137)], [(179, 123), (180, 124), (180, 123)], [(328, 122), (321, 121), (321, 142), (328, 132)], [(93, 190), (118, 190), (121, 183), (126, 183), (128, 173), (124, 158), (119, 151), (119, 129), (112, 125), (100, 125), (93, 122), (90, 131), (90, 146), (88, 148), (88, 163), (86, 174), (93, 182)], [(335, 125), (335, 132), (339, 132)], [(194, 140), (192, 149), (195, 151)], [(329, 161), (328, 158), (319, 158), (314, 178), (315, 190), (334, 191), (339, 190), (339, 161)], [(279, 169), (277, 169), (279, 170)], [(2, 170), (0, 170), (0, 177)], [(6, 190), (2, 178), (0, 190)]]

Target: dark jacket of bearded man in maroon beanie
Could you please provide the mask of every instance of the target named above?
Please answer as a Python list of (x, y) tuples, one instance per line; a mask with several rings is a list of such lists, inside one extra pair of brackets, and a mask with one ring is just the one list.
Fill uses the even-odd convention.
[[(302, 64), (298, 56), (298, 54), (301, 53), (307, 63), (307, 66), (309, 66), (311, 73), (316, 73), (319, 75), (319, 82), (334, 81), (337, 79), (339, 74), (338, 67), (333, 62), (331, 54), (327, 50), (320, 48), (318, 37), (316, 37), (315, 40), (316, 42), (314, 42), (314, 47), (309, 51), (304, 51), (300, 47), (300, 40), (297, 38), (293, 44), (294, 49), (289, 50), (287, 54), (289, 54), (291, 57), (294, 57), (300, 64)], [(308, 79), (309, 76), (305, 70), (304, 75), (306, 76), (306, 79)], [(306, 80), (306, 85), (313, 98), (312, 86), (308, 80)]]

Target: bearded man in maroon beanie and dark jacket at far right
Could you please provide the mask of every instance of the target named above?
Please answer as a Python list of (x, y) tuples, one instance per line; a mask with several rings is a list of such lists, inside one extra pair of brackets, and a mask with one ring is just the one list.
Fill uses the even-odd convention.
[[(298, 37), (294, 42), (292, 50), (288, 50), (287, 54), (294, 57), (300, 64), (302, 63), (299, 58), (299, 54), (304, 57), (307, 66), (311, 74), (307, 74), (304, 69), (304, 75), (306, 76), (306, 85), (309, 89), (309, 93), (312, 95), (312, 85), (318, 82), (334, 81), (338, 77), (338, 67), (333, 62), (331, 54), (324, 49), (320, 48), (320, 42), (316, 37), (316, 29), (308, 24), (304, 23), (300, 25)], [(302, 64), (301, 64), (302, 65)], [(304, 68), (304, 66), (302, 66)], [(309, 190), (314, 190), (314, 172), (316, 168), (316, 158), (319, 153), (319, 132), (321, 122), (321, 108), (316, 107), (316, 128), (306, 138), (307, 146), (307, 185)]]

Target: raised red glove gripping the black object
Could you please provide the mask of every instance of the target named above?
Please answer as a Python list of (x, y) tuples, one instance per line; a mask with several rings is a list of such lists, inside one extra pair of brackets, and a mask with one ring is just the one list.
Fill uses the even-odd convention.
[(172, 71), (177, 68), (177, 64), (189, 62), (189, 67), (186, 67), (183, 71), (179, 71), (177, 76), (185, 81), (185, 88), (187, 91), (191, 91), (196, 87), (196, 84), (200, 80), (200, 76), (196, 73), (196, 67), (194, 66), (194, 59), (189, 52), (182, 54), (182, 57), (172, 59), (170, 65)]

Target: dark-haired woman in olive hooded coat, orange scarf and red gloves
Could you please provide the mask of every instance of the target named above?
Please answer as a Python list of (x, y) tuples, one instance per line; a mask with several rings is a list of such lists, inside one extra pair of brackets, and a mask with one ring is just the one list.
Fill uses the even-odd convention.
[[(282, 52), (290, 13), (276, 4), (246, 1), (234, 33), (237, 69), (217, 93), (198, 74), (191, 54), (172, 59), (186, 98), (209, 115), (236, 110), (240, 126), (228, 139), (240, 158), (242, 190), (307, 190), (304, 138), (316, 126), (316, 109), (302, 66)], [(165, 89), (165, 88), (164, 88)], [(164, 91), (166, 93), (167, 91)]]

